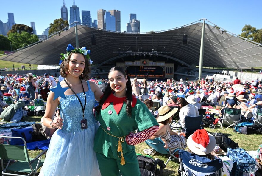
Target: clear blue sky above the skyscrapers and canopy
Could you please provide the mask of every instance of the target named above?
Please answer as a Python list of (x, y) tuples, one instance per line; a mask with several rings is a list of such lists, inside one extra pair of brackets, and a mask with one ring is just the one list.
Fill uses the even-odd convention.
[[(73, 0), (65, 0), (68, 8), (73, 5)], [(206, 18), (216, 25), (235, 34), (240, 34), (245, 24), (250, 24), (257, 29), (262, 28), (261, 0), (75, 0), (82, 10), (89, 10), (91, 18), (97, 19), (97, 10), (120, 10), (121, 31), (126, 30), (129, 14), (136, 13), (140, 20), (140, 32), (159, 31), (179, 27), (201, 18)], [(0, 20), (7, 22), (7, 13), (14, 13), (15, 22), (30, 26), (35, 22), (37, 34), (42, 34), (44, 29), (54, 19), (61, 18), (60, 8), (62, 0), (2, 0), (0, 2)]]

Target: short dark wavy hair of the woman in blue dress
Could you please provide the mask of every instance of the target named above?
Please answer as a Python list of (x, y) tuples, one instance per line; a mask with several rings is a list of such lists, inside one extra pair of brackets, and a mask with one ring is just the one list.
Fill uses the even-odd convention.
[[(70, 58), (72, 54), (74, 53), (71, 53), (68, 56), (68, 59), (63, 60), (63, 62), (60, 65), (60, 75), (64, 78), (66, 77), (66, 72), (68, 72), (68, 63), (70, 62)], [(82, 54), (82, 53), (77, 53), (77, 54)], [(85, 58), (85, 68), (84, 68), (83, 73), (79, 76), (79, 78), (87, 81), (89, 80), (89, 76), (90, 76), (90, 61), (88, 58), (85, 57), (85, 55), (83, 56)]]

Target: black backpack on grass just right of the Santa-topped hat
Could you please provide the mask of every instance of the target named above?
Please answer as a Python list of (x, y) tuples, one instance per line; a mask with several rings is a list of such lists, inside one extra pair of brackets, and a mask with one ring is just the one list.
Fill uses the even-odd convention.
[(225, 152), (227, 152), (227, 148), (238, 148), (238, 143), (235, 143), (232, 139), (230, 139), (227, 135), (221, 133), (219, 131), (219, 133), (217, 133), (218, 130), (216, 130), (215, 133), (212, 133), (212, 135), (215, 137), (216, 139), (216, 144), (219, 145), (219, 147), (224, 150)]

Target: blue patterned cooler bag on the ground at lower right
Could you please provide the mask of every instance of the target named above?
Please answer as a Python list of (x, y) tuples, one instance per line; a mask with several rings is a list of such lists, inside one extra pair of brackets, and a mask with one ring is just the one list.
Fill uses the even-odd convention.
[(243, 172), (248, 172), (249, 165), (256, 163), (256, 160), (242, 148), (227, 148), (227, 157), (229, 157), (231, 160), (233, 160), (234, 163), (236, 163), (237, 170), (240, 169)]

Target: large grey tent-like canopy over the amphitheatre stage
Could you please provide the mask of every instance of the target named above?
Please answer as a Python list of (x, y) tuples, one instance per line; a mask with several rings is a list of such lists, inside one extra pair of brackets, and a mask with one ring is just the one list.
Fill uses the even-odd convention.
[[(77, 28), (79, 46), (91, 50), (94, 64), (110, 64), (120, 57), (124, 60), (125, 56), (135, 52), (154, 50), (161, 53), (159, 55), (162, 59), (171, 58), (188, 66), (199, 65), (202, 22), (149, 33), (118, 33), (82, 25), (78, 25)], [(183, 44), (184, 33), (188, 36), (187, 44)], [(58, 64), (59, 53), (65, 53), (69, 43), (76, 45), (75, 37), (75, 28), (72, 27), (0, 59), (26, 64)], [(262, 67), (262, 47), (206, 23), (203, 66)]]

